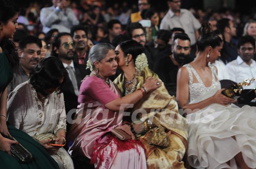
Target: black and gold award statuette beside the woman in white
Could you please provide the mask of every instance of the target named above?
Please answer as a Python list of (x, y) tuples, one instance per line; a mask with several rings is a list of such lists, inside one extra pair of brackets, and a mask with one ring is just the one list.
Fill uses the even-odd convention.
[[(222, 91), (222, 94), (226, 97), (238, 99), (243, 94), (243, 86), (249, 86), (251, 84), (251, 81), (254, 81), (255, 78), (253, 77), (251, 80), (246, 78), (244, 82), (235, 84), (233, 86), (230, 86)], [(254, 91), (254, 90), (253, 90)], [(254, 92), (255, 95), (255, 92)]]

